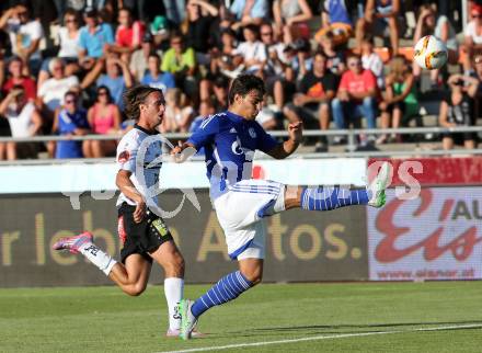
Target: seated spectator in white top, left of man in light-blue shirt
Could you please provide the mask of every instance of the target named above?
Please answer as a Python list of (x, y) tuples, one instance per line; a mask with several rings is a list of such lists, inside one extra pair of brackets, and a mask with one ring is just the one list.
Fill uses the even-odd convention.
[[(67, 9), (64, 16), (64, 24), (58, 30), (57, 39), (59, 43), (59, 52), (57, 57), (61, 58), (66, 64), (66, 75), (76, 75), (80, 70), (79, 66), (79, 36), (80, 36), (80, 16), (73, 9)], [(48, 62), (51, 58), (47, 58), (42, 64), (41, 72), (38, 73), (37, 84), (42, 86), (50, 77), (48, 71)]]

